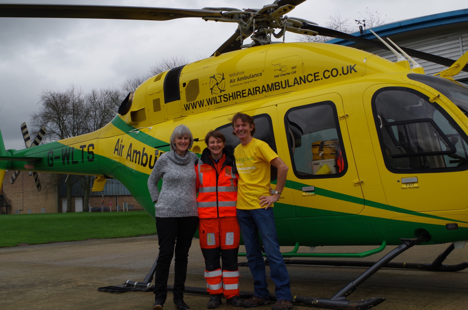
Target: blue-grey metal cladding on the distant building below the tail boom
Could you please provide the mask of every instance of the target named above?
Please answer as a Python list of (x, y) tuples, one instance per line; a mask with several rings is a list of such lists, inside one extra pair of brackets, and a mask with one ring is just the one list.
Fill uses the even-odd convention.
[[(70, 175), (72, 180), (72, 196), (84, 196), (84, 180), (80, 178), (81, 176)], [(66, 184), (65, 184), (66, 175), (60, 180), (60, 196), (66, 196)], [(93, 177), (94, 179), (94, 177)], [(91, 186), (93, 186), (93, 181), (91, 181)], [(132, 195), (130, 191), (117, 179), (107, 179), (106, 185), (102, 192), (89, 192), (90, 196), (124, 196)]]

